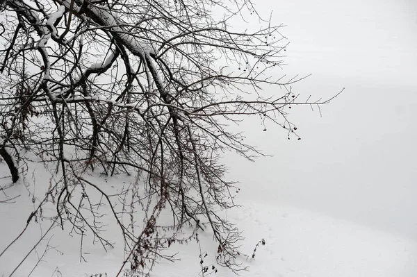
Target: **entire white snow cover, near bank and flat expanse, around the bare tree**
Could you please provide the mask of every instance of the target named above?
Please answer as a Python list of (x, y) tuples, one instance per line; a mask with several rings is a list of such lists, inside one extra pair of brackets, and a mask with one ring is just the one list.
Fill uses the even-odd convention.
[[(416, 277), (417, 6), (393, 0), (329, 2), (272, 5), (276, 20), (288, 24), (283, 31), (291, 42), (288, 74), (313, 73), (297, 90), (323, 97), (346, 90), (323, 108), (322, 118), (317, 111), (297, 114), (300, 110), (294, 109), (291, 118), (300, 126), (300, 142), (286, 140), (279, 130), (263, 132), (256, 120), (238, 127), (252, 131), (248, 142), (274, 155), (255, 163), (232, 155), (224, 159), (230, 178), (242, 188), (237, 197), (242, 207), (227, 212), (246, 237), (241, 262), (249, 271), (239, 274)], [(6, 175), (6, 165), (0, 170)], [(36, 178), (39, 187), (49, 183), (49, 178)], [(20, 181), (7, 193), (19, 197), (13, 204), (0, 203), (0, 253), (33, 210)], [(0, 257), (0, 277), (10, 276), (48, 223), (28, 228)], [(109, 226), (108, 231), (117, 242), (118, 230)], [(54, 228), (13, 276), (28, 276), (47, 244), (53, 248), (31, 276), (117, 274), (122, 245), (105, 252), (85, 242), (87, 262), (80, 262), (81, 242), (69, 232)], [(259, 244), (251, 259), (262, 239), (265, 245)], [(179, 251), (179, 260), (161, 260), (152, 276), (202, 276), (200, 249), (208, 254), (208, 274), (235, 276), (213, 264), (216, 248), (210, 233), (200, 234), (199, 244), (173, 244), (170, 251)]]

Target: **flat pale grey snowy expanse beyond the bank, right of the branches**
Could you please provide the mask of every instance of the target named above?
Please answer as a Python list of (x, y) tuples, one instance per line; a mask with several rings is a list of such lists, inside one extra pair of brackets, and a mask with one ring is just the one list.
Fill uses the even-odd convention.
[[(273, 158), (227, 157), (231, 177), (264, 201), (356, 221), (417, 240), (416, 1), (256, 0), (291, 44), (287, 74), (313, 74), (293, 87), (322, 107), (293, 108), (302, 140), (245, 121), (248, 142)], [(283, 72), (277, 72), (282, 74)], [(272, 127), (272, 126), (271, 126)]]

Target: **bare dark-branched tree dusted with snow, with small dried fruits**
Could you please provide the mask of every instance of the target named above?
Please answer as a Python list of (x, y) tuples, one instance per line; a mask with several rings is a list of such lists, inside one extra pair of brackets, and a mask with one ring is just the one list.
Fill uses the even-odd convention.
[[(279, 26), (250, 0), (6, 0), (0, 9), (0, 153), (13, 182), (22, 161), (42, 161), (54, 176), (27, 224), (54, 205), (53, 224), (70, 223), (106, 249), (99, 207), (107, 205), (129, 274), (174, 259), (163, 249), (199, 230), (213, 232), (220, 265), (242, 269), (240, 231), (219, 213), (236, 192), (219, 158), (259, 152), (227, 124), (258, 115), (297, 137), (284, 109), (330, 100), (298, 101), (290, 86), (299, 79), (272, 77), (286, 47)], [(230, 26), (246, 14), (265, 28)], [(132, 173), (137, 181), (117, 194), (93, 178)], [(179, 237), (183, 228), (193, 231)]]

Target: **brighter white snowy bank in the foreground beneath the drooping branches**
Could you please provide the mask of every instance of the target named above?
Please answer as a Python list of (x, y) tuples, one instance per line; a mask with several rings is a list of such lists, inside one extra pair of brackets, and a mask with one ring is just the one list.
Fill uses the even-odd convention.
[[(2, 166), (1, 170), (4, 169)], [(128, 180), (122, 176), (106, 178), (103, 185), (116, 185), (121, 181)], [(48, 182), (47, 178), (36, 181), (38, 185), (44, 182)], [(33, 210), (28, 191), (22, 183), (15, 184), (8, 190), (8, 194), (21, 196), (16, 203), (1, 206), (0, 222), (3, 228), (0, 252), (21, 232)], [(240, 199), (238, 202), (242, 207), (229, 210), (226, 216), (238, 224), (246, 237), (240, 253), (252, 256), (256, 243), (265, 240), (265, 245), (258, 246), (254, 259), (247, 260), (242, 255), (240, 262), (249, 268), (248, 271), (241, 271), (240, 276), (417, 276), (417, 242), (288, 205), (265, 204), (248, 199)], [(41, 230), (38, 224), (32, 223), (21, 240), (0, 257), (0, 276), (10, 275), (48, 224), (43, 222)], [(115, 249), (105, 252), (99, 245), (88, 244), (88, 238), (85, 239), (83, 252), (87, 262), (80, 262), (79, 236), (70, 237), (68, 233), (70, 226), (66, 226), (65, 230), (55, 228), (38, 247), (38, 254), (33, 252), (29, 255), (13, 276), (27, 276), (48, 241), (55, 249), (47, 252), (31, 276), (116, 275), (123, 259), (123, 245), (115, 224), (108, 226), (108, 237), (116, 242)], [(211, 265), (215, 265), (213, 262), (217, 244), (213, 242), (211, 233), (202, 233), (199, 238), (203, 253), (208, 253), (204, 265), (211, 268)], [(174, 263), (161, 260), (151, 276), (201, 276), (199, 245), (195, 240), (183, 245), (173, 244), (170, 251), (179, 251), (177, 258), (181, 260)], [(228, 269), (217, 265), (215, 267), (218, 273), (213, 273), (213, 276), (235, 276)], [(60, 274), (56, 269), (59, 269)]]

